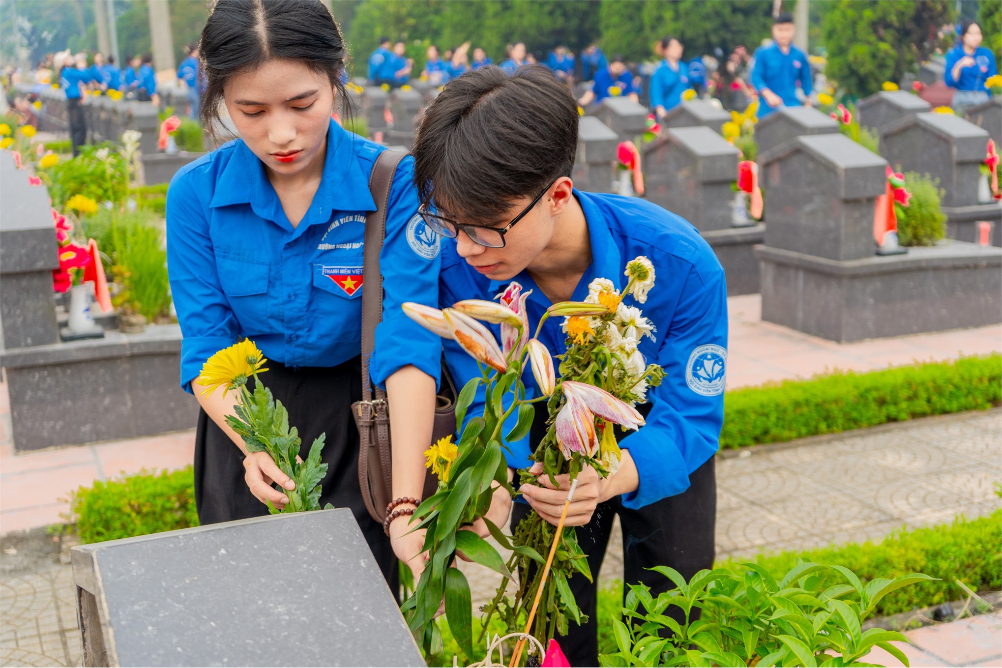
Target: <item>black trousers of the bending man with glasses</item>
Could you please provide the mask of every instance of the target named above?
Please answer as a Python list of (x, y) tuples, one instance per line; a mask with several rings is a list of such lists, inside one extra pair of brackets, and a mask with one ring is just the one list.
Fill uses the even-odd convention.
[[(643, 413), (643, 411), (641, 411)], [(533, 440), (533, 443), (537, 441)], [(528, 504), (513, 504), (511, 524), (517, 526), (532, 510)], [(689, 488), (681, 494), (662, 499), (637, 510), (623, 508), (619, 497), (599, 504), (591, 522), (577, 527), (577, 542), (588, 555), (588, 567), (594, 582), (588, 582), (580, 573), (570, 578), (581, 612), (588, 621), (578, 626), (571, 620), (566, 636), (557, 636), (560, 648), (572, 666), (598, 665), (598, 620), (595, 616), (598, 594), (598, 572), (602, 568), (612, 520), (618, 515), (623, 538), (623, 597), (628, 585), (644, 584), (655, 599), (661, 592), (674, 588), (670, 580), (655, 571), (653, 566), (670, 566), (686, 580), (704, 568), (713, 567), (714, 530), (716, 525), (716, 470), (714, 458), (692, 472)], [(698, 618), (693, 609), (689, 621)], [(670, 606), (669, 617), (682, 623), (685, 615), (681, 608)]]

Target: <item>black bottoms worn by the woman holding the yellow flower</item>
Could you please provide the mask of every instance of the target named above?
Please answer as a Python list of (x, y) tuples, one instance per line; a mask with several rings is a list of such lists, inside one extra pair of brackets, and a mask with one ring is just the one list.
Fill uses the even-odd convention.
[[(373, 557), (399, 592), (397, 559), (383, 525), (370, 517), (359, 487), (359, 432), (352, 418), (353, 402), (362, 399), (361, 359), (338, 367), (293, 368), (274, 360), (262, 383), (289, 411), (289, 424), (299, 429), (307, 458), (314, 439), (326, 433), (322, 461), (328, 465), (321, 481), (320, 504), (350, 508), (369, 543)], [(254, 390), (254, 380), (249, 389)], [(243, 453), (201, 411), (194, 442), (194, 500), (201, 524), (215, 524), (268, 515), (268, 506), (250, 494), (243, 481)]]

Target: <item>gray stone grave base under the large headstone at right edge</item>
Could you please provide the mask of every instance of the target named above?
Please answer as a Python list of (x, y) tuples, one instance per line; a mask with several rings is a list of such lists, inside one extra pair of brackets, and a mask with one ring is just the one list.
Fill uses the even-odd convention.
[(962, 241), (833, 260), (766, 245), (762, 319), (840, 343), (1002, 322), (1002, 250)]

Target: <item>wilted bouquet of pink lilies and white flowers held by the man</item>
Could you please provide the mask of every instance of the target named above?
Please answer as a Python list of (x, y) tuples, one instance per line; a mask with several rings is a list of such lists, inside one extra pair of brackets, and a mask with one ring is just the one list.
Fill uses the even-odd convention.
[[(485, 629), (490, 617), (497, 613), (509, 631), (522, 631), (523, 626), (532, 625), (532, 635), (545, 646), (557, 630), (566, 632), (569, 619), (584, 621), (567, 583), (575, 571), (591, 578), (587, 556), (577, 545), (574, 532), (561, 531), (562, 524), (553, 527), (533, 512), (509, 538), (483, 516), (498, 486), (513, 493), (502, 455), (506, 450), (501, 438), (504, 422), (517, 416), (516, 425), (503, 435), (505, 442), (525, 438), (536, 403), (546, 401), (549, 416), (546, 436), (531, 457), (542, 464), (541, 476), (548, 476), (555, 485), (556, 476), (569, 474), (574, 481), (585, 466), (603, 477), (617, 471), (620, 451), (613, 426), (638, 429), (643, 425), (634, 406), (646, 401), (647, 389), (659, 384), (663, 376), (661, 369), (647, 365), (637, 350), (640, 339), (653, 338), (653, 326), (639, 308), (623, 303), (626, 296), (639, 303), (646, 300), (654, 282), (654, 268), (646, 257), (637, 257), (627, 263), (625, 275), (628, 282), (622, 291), (611, 280), (596, 278), (584, 301), (558, 302), (543, 314), (536, 337), (547, 318), (564, 318), (562, 328), (567, 333), (568, 349), (559, 358), (559, 379), (549, 351), (537, 338), (529, 338), (525, 308), (528, 293), (522, 293), (517, 282), (498, 295), (500, 303), (468, 299), (444, 310), (405, 304), (405, 311), (413, 319), (444, 338), (454, 339), (481, 363), (481, 378), (470, 381), (457, 401), (460, 424), (481, 385), (485, 397), (483, 415), (470, 419), (464, 428), (456, 454), (447, 463), (444, 479), (440, 479), (438, 493), (425, 500), (415, 513), (417, 528), (427, 529), (424, 547), (429, 567), (403, 610), (426, 652), (439, 646), (437, 627), (430, 622), (444, 596), (449, 628), (463, 652), (472, 656), (469, 585), (463, 574), (451, 566), (459, 551), (505, 578), (485, 609)], [(500, 324), (501, 346), (478, 320)], [(540, 397), (526, 397), (521, 382), (526, 366), (532, 369)], [(437, 444), (434, 456), (440, 471), (447, 459), (442, 457), (441, 445)], [(429, 459), (432, 465), (433, 458)], [(537, 480), (528, 470), (519, 475), (522, 483)], [(463, 528), (476, 518), (484, 520), (498, 543), (512, 550), (507, 564), (490, 544)], [(547, 553), (548, 558), (544, 558), (542, 555)], [(552, 577), (547, 579), (550, 574)], [(516, 585), (513, 600), (505, 595), (509, 580)], [(540, 601), (544, 602), (541, 607)]]

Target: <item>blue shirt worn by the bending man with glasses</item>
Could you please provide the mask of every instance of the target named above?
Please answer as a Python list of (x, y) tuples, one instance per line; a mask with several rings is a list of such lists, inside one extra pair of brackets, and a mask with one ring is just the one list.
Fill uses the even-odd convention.
[[(664, 369), (660, 387), (648, 390), (651, 404), (646, 425), (620, 442), (636, 464), (640, 484), (623, 495), (626, 508), (640, 508), (684, 492), (688, 476), (713, 456), (723, 422), (723, 383), (727, 346), (727, 300), (723, 269), (709, 245), (688, 222), (643, 199), (574, 190), (588, 223), (592, 261), (578, 282), (573, 299), (584, 299), (588, 283), (596, 277), (625, 287), (626, 262), (645, 255), (654, 265), (654, 286), (645, 303), (632, 297), (624, 304), (637, 306), (656, 327), (656, 342), (643, 338), (639, 351), (649, 363)], [(550, 300), (526, 271), (513, 280), (521, 283), (533, 331)], [(444, 240), (439, 298), (442, 306), (460, 299), (494, 299), (508, 281), (492, 281), (467, 264), (453, 239)], [(561, 319), (543, 324), (540, 341), (554, 356), (566, 352)], [(498, 325), (490, 325), (500, 341)], [(479, 378), (477, 363), (455, 342), (445, 344), (446, 361), (457, 387)], [(711, 362), (706, 362), (707, 360)], [(716, 363), (715, 365), (713, 363)], [(704, 364), (705, 363), (705, 364)], [(554, 366), (559, 362), (554, 361)], [(539, 396), (531, 372), (522, 377), (529, 397)], [(481, 414), (481, 389), (468, 417)], [(537, 404), (536, 410), (545, 410)], [(505, 427), (505, 432), (512, 424)], [(508, 465), (529, 466), (534, 447), (529, 437), (507, 444)]]

